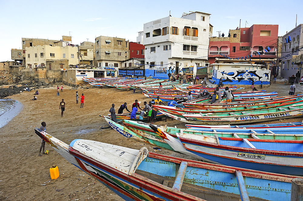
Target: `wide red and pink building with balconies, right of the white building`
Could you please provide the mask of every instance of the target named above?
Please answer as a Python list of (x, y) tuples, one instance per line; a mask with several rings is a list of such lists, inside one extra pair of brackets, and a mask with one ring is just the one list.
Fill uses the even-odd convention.
[[(278, 25), (254, 24), (250, 28), (229, 30), (229, 33), (231, 34), (230, 37), (211, 37), (209, 39), (209, 63), (241, 62), (245, 61), (245, 57), (248, 58), (248, 55), (248, 60), (251, 59), (255, 64), (275, 61), (277, 57)], [(228, 36), (228, 34), (225, 34), (225, 36)], [(270, 50), (268, 50), (268, 47)]]

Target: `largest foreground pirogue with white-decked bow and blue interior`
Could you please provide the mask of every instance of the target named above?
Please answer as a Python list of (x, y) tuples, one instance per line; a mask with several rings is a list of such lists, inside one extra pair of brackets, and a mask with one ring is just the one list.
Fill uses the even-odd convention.
[(35, 133), (80, 170), (128, 201), (290, 200), (295, 177), (181, 159), (98, 141), (69, 145)]

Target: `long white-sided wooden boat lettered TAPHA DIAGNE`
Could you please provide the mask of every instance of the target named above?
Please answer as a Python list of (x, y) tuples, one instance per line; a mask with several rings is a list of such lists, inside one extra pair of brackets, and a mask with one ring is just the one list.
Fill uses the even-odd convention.
[(278, 120), (280, 118), (294, 118), (303, 115), (303, 104), (292, 105), (275, 109), (254, 110), (249, 112), (225, 112), (216, 114), (184, 114), (183, 117), (161, 111), (161, 113), (176, 120), (208, 125), (245, 124), (250, 122), (265, 122)]

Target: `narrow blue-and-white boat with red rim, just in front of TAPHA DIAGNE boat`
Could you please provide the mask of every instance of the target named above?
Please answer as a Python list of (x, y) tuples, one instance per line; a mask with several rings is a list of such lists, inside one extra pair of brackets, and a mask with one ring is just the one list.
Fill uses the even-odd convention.
[(288, 122), (275, 124), (253, 124), (253, 125), (191, 125), (186, 124), (187, 128), (303, 128), (303, 122)]

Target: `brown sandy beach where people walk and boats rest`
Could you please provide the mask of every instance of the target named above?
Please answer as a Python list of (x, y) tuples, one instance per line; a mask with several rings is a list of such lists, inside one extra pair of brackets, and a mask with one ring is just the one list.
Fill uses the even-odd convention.
[[(278, 91), (279, 96), (288, 95), (290, 85), (272, 84), (268, 92)], [(39, 157), (41, 139), (35, 134), (34, 128), (40, 128), (41, 122), (46, 122), (46, 132), (69, 144), (77, 138), (101, 141), (128, 148), (140, 149), (143, 143), (124, 138), (111, 129), (100, 129), (106, 125), (99, 115), (109, 114), (112, 103), (116, 113), (124, 102), (129, 110), (135, 99), (149, 101), (142, 93), (119, 90), (114, 88), (78, 89), (81, 96), (84, 93), (84, 108), (76, 104), (75, 92), (64, 86), (60, 96), (56, 96), (56, 88), (41, 88), (37, 101), (32, 101), (34, 92), (22, 92), (10, 97), (22, 103), (22, 111), (7, 125), (0, 128), (0, 200), (123, 200), (100, 182), (68, 163), (48, 144), (45, 149), (48, 155)], [(242, 91), (248, 91), (246, 90)], [(137, 90), (138, 91), (138, 90)], [(295, 94), (298, 94), (297, 92)], [(63, 117), (59, 103), (64, 99), (66, 106)], [(140, 104), (140, 106), (141, 106)], [(283, 122), (298, 122), (302, 118), (291, 118)], [(268, 123), (276, 123), (272, 121)], [(155, 124), (185, 128), (185, 123), (169, 119), (156, 121)], [(151, 145), (143, 144), (150, 151)], [(157, 153), (170, 155), (172, 152), (161, 149)], [(58, 179), (51, 180), (49, 168), (53, 165), (59, 168)], [(49, 182), (48, 182), (49, 181)]]

